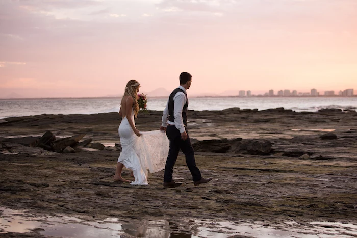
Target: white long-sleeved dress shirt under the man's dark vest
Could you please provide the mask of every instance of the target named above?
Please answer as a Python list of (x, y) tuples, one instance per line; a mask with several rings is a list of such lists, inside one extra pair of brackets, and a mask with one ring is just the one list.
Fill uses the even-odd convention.
[[(186, 93), (186, 89), (184, 87), (182, 87), (180, 85), (179, 88), (182, 89)], [(169, 100), (167, 100), (166, 108), (164, 110), (164, 113), (163, 113), (163, 116), (161, 119), (161, 121), (162, 121), (161, 126), (167, 127), (167, 124), (175, 125), (176, 128), (180, 130), (180, 133), (185, 132), (185, 125), (184, 125), (184, 122), (182, 119), (182, 110), (184, 108), (184, 105), (187, 102), (185, 93), (177, 92), (176, 95), (173, 97), (173, 101), (174, 101), (173, 116), (175, 118), (175, 121), (167, 120), (167, 117), (169, 116)]]

